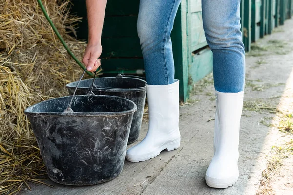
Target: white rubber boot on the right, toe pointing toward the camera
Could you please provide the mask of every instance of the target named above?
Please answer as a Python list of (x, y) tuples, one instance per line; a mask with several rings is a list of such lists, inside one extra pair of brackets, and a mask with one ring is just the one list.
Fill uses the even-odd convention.
[(243, 91), (216, 91), (214, 156), (206, 172), (206, 183), (213, 188), (228, 188), (239, 177), (238, 146)]

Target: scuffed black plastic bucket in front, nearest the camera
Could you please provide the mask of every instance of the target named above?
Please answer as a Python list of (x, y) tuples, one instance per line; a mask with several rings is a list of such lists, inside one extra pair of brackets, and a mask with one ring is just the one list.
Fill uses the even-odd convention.
[(134, 102), (115, 96), (72, 96), (27, 108), (51, 180), (92, 185), (117, 177), (123, 168)]

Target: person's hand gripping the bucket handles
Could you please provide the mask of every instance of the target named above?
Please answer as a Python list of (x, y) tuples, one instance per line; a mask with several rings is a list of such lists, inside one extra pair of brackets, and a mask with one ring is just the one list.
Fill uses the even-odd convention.
[(99, 57), (102, 53), (102, 45), (101, 43), (97, 44), (88, 44), (83, 57), (83, 63), (86, 66), (86, 69), (90, 72), (94, 72), (97, 70), (99, 66), (101, 66), (101, 59)]

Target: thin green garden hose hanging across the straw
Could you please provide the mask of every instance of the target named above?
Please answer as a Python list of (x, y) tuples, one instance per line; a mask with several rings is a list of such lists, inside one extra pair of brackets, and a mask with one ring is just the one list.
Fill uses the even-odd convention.
[[(50, 19), (48, 13), (46, 12), (41, 0), (37, 0), (42, 12), (44, 13), (46, 19), (48, 20), (50, 26), (52, 27), (52, 29), (54, 30), (55, 34), (57, 35), (58, 39), (61, 41), (61, 43), (63, 44), (64, 48), (67, 50), (68, 54), (76, 61), (76, 63), (83, 69), (85, 70), (86, 67), (84, 67), (84, 65), (74, 56), (74, 54), (70, 51), (69, 47), (66, 45), (66, 43), (64, 42), (64, 40), (62, 39), (61, 35), (59, 34), (58, 30), (56, 29), (56, 27), (54, 26), (52, 20)], [(94, 76), (93, 73), (86, 71), (87, 74), (89, 74), (90, 76)]]

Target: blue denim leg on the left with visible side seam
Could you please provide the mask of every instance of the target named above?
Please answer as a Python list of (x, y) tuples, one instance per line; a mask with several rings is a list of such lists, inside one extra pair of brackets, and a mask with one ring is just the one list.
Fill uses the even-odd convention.
[(140, 0), (137, 32), (140, 38), (147, 84), (174, 82), (170, 38), (181, 0)]

